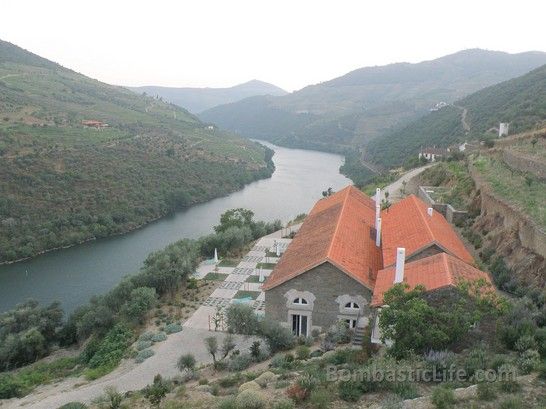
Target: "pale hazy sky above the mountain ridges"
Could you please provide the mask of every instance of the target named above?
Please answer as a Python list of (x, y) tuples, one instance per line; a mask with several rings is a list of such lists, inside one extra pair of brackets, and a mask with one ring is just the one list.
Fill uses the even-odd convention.
[(0, 39), (120, 85), (287, 90), (465, 48), (546, 51), (540, 0), (0, 0)]

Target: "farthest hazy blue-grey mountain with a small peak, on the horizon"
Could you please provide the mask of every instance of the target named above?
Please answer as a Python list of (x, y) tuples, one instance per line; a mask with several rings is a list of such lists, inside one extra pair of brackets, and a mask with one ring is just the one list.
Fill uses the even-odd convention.
[(206, 109), (240, 101), (256, 95), (282, 96), (287, 92), (267, 82), (252, 80), (230, 88), (171, 88), (171, 87), (128, 87), (151, 96), (160, 96), (190, 112), (199, 113)]

